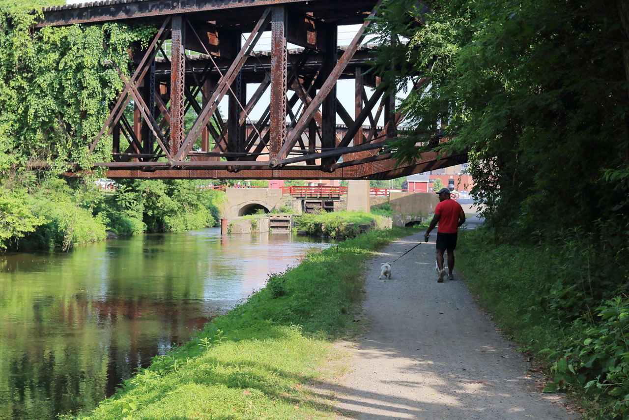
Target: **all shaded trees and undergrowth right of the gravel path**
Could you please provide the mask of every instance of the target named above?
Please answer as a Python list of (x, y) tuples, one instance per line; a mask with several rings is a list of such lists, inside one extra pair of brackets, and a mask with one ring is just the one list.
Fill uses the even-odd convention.
[(475, 290), (525, 346), (547, 348), (547, 392), (576, 390), (589, 416), (626, 418), (626, 2), (385, 0), (382, 9), (383, 86), (423, 80), (401, 103), (407, 128), (391, 150), (406, 161), (468, 152), (486, 225), (462, 241)]

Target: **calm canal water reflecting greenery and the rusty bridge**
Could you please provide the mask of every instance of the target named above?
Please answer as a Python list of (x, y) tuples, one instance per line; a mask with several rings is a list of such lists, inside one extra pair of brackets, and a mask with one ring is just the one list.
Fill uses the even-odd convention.
[(94, 407), (269, 273), (327, 246), (213, 228), (0, 256), (0, 419)]

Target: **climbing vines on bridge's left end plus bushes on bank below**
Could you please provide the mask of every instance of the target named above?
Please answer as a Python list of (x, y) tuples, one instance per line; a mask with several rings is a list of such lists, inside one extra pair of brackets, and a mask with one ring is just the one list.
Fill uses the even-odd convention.
[(157, 31), (117, 23), (33, 30), (34, 8), (63, 3), (0, 2), (0, 250), (213, 225), (220, 195), (192, 181), (120, 181), (101, 193), (93, 181), (102, 173), (61, 176), (67, 162), (89, 168), (110, 158), (110, 143), (90, 151), (89, 139), (123, 87), (116, 66), (128, 74), (129, 52)]

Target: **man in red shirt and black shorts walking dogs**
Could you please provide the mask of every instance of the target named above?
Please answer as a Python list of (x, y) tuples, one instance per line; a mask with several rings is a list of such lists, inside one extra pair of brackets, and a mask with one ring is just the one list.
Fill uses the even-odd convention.
[(448, 280), (454, 280), (454, 249), (457, 247), (457, 232), (459, 226), (465, 223), (465, 213), (459, 203), (450, 200), (450, 190), (442, 188), (437, 191), (440, 203), (435, 207), (435, 217), (430, 221), (430, 226), (424, 234), (426, 242), (430, 231), (437, 225), (437, 271), (439, 271), (438, 283), (443, 283), (446, 276), (443, 270), (443, 252), (448, 250)]

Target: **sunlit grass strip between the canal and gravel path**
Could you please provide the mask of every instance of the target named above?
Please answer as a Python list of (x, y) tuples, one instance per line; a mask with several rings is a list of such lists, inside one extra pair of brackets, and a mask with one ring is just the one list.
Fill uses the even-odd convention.
[(306, 383), (340, 358), (331, 339), (344, 334), (362, 298), (361, 264), (408, 229), (373, 230), (296, 268), (209, 323), (174, 353), (127, 380), (81, 418), (133, 419), (333, 417)]

